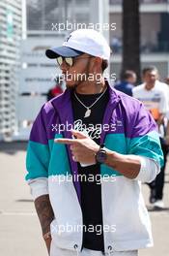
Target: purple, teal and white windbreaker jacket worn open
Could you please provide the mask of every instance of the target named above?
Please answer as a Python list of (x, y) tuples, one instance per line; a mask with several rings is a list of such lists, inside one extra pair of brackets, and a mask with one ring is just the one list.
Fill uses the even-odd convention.
[[(138, 100), (109, 85), (108, 90), (109, 102), (102, 121), (106, 129), (101, 130), (100, 143), (118, 153), (148, 157), (162, 165), (156, 125), (150, 113)], [(54, 143), (54, 138), (71, 139), (71, 128), (73, 115), (67, 89), (42, 106), (33, 124), (27, 149), (26, 180), (28, 183), (41, 178), (47, 180), (54, 211), (52, 240), (61, 248), (73, 250), (75, 247), (80, 251), (83, 222), (77, 163), (72, 161), (69, 145)], [(129, 179), (104, 164), (100, 165), (100, 176), (105, 252), (152, 246), (151, 223), (141, 181)]]

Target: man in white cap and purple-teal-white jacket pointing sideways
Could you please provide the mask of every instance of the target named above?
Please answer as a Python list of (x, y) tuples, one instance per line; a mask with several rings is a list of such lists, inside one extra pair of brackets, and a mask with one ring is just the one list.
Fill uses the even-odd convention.
[(67, 89), (35, 120), (26, 179), (48, 252), (137, 256), (153, 245), (140, 181), (155, 179), (162, 163), (155, 121), (103, 79), (110, 48), (99, 32), (73, 31), (46, 55)]

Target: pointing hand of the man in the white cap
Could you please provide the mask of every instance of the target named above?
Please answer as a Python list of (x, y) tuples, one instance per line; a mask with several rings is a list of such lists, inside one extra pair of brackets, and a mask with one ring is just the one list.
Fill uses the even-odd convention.
[(75, 162), (84, 164), (95, 164), (95, 153), (99, 151), (99, 144), (96, 144), (84, 133), (71, 130), (71, 134), (76, 139), (55, 139), (57, 144), (70, 144), (72, 159)]

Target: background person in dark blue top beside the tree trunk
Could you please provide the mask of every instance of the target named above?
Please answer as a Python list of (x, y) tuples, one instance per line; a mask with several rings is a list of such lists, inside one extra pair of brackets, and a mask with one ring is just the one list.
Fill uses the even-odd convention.
[(114, 88), (132, 96), (132, 89), (136, 80), (137, 76), (135, 72), (132, 70), (126, 70), (121, 76), (121, 81), (116, 83)]

